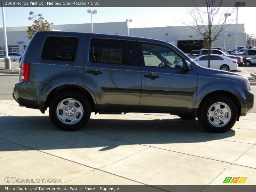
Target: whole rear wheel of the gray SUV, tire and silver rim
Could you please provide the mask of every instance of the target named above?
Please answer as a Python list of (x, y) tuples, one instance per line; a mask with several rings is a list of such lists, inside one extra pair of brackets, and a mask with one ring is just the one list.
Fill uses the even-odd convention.
[(53, 98), (49, 115), (52, 123), (61, 130), (76, 131), (88, 122), (91, 110), (90, 102), (83, 94), (70, 90)]

